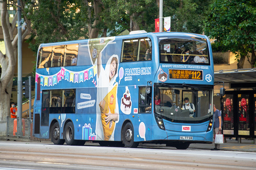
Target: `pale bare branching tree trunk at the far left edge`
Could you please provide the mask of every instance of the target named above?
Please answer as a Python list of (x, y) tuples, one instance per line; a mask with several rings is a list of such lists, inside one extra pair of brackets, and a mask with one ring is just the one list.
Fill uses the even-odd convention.
[[(10, 96), (13, 87), (13, 75), (18, 54), (18, 34), (13, 36), (16, 29), (18, 13), (15, 14), (13, 22), (10, 24), (7, 11), (7, 2), (0, 1), (1, 24), (3, 29), (3, 39), (5, 41), (6, 54), (0, 51), (0, 64), (2, 74), (0, 78), (0, 119), (10, 116)], [(22, 30), (22, 40), (28, 35), (29, 31)]]

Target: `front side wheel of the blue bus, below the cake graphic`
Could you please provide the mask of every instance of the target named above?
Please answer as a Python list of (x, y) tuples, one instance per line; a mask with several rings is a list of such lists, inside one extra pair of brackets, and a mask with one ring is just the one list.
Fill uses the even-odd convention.
[(131, 122), (127, 122), (122, 130), (122, 140), (126, 147), (137, 147), (139, 142), (134, 142), (134, 130)]

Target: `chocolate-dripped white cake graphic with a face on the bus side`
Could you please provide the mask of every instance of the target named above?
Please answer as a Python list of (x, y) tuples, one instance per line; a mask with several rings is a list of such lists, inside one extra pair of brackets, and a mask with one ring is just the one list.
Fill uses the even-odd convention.
[(125, 87), (125, 93), (123, 94), (123, 97), (121, 99), (121, 111), (125, 114), (131, 113), (131, 95), (129, 88)]

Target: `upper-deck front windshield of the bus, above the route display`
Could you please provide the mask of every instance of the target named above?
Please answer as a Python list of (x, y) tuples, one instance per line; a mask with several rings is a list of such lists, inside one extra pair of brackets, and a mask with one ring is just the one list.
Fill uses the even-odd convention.
[(207, 41), (195, 37), (160, 37), (160, 62), (209, 65)]

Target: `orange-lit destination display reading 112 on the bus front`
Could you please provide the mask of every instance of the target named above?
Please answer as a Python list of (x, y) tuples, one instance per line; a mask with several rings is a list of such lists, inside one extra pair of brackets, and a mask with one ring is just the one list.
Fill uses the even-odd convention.
[(203, 71), (169, 69), (169, 79), (203, 80)]

